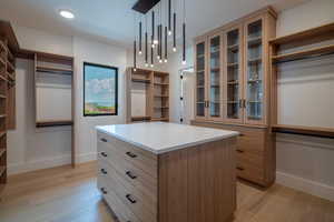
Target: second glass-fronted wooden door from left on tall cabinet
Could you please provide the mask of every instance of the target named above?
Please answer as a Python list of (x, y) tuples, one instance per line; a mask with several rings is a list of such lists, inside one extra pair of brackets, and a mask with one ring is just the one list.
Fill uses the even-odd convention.
[(208, 38), (208, 119), (222, 119), (223, 74), (222, 74), (222, 36)]

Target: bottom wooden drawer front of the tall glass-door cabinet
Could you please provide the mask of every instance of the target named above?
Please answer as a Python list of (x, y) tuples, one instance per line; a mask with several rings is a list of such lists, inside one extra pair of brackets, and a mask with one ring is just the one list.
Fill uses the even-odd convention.
[(264, 184), (264, 170), (247, 163), (237, 162), (237, 176)]

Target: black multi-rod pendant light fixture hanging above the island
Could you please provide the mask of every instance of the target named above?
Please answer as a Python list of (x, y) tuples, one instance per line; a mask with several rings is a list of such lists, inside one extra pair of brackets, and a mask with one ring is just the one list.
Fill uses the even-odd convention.
[[(179, 3), (177, 3), (179, 1)], [(176, 9), (176, 6), (180, 6)], [(134, 29), (135, 29), (135, 41), (134, 41), (134, 70), (137, 69), (137, 53), (144, 54), (145, 50), (145, 67), (154, 67), (155, 59), (159, 63), (168, 62), (168, 39), (170, 36), (171, 51), (177, 51), (176, 36), (177, 36), (177, 11), (181, 11), (181, 44), (183, 54), (181, 63), (186, 64), (186, 0), (137, 0), (132, 9), (141, 14), (145, 14), (145, 33), (143, 28), (143, 17), (139, 20), (139, 32), (138, 39), (136, 36), (136, 14), (134, 16)], [(158, 11), (158, 12), (157, 12)], [(157, 12), (157, 13), (156, 13)], [(147, 19), (148, 14), (151, 14), (151, 29), (148, 32)], [(148, 17), (148, 18), (147, 18)], [(144, 36), (143, 36), (144, 34)], [(150, 34), (150, 36), (149, 36)], [(171, 37), (173, 36), (173, 37)], [(143, 37), (145, 38), (145, 48), (143, 48)], [(150, 40), (149, 40), (150, 37)], [(173, 39), (171, 39), (173, 38)], [(138, 49), (137, 49), (138, 47)], [(150, 49), (150, 62), (148, 61)], [(156, 50), (155, 50), (156, 49)], [(156, 51), (156, 56), (155, 56)], [(150, 64), (149, 64), (150, 63)]]

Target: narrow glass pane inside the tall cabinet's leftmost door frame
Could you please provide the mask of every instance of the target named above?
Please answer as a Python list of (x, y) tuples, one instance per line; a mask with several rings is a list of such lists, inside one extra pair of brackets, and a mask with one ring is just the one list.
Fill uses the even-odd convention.
[(205, 115), (205, 43), (196, 46), (196, 114)]

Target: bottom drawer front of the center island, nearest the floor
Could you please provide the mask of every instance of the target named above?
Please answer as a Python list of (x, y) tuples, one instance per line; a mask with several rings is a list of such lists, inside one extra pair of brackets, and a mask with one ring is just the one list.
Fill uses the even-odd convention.
[(100, 190), (104, 199), (111, 208), (112, 212), (116, 214), (120, 222), (144, 222), (140, 221), (122, 201), (117, 196), (117, 194), (110, 189), (108, 183), (105, 181), (104, 176), (98, 176), (98, 189)]

